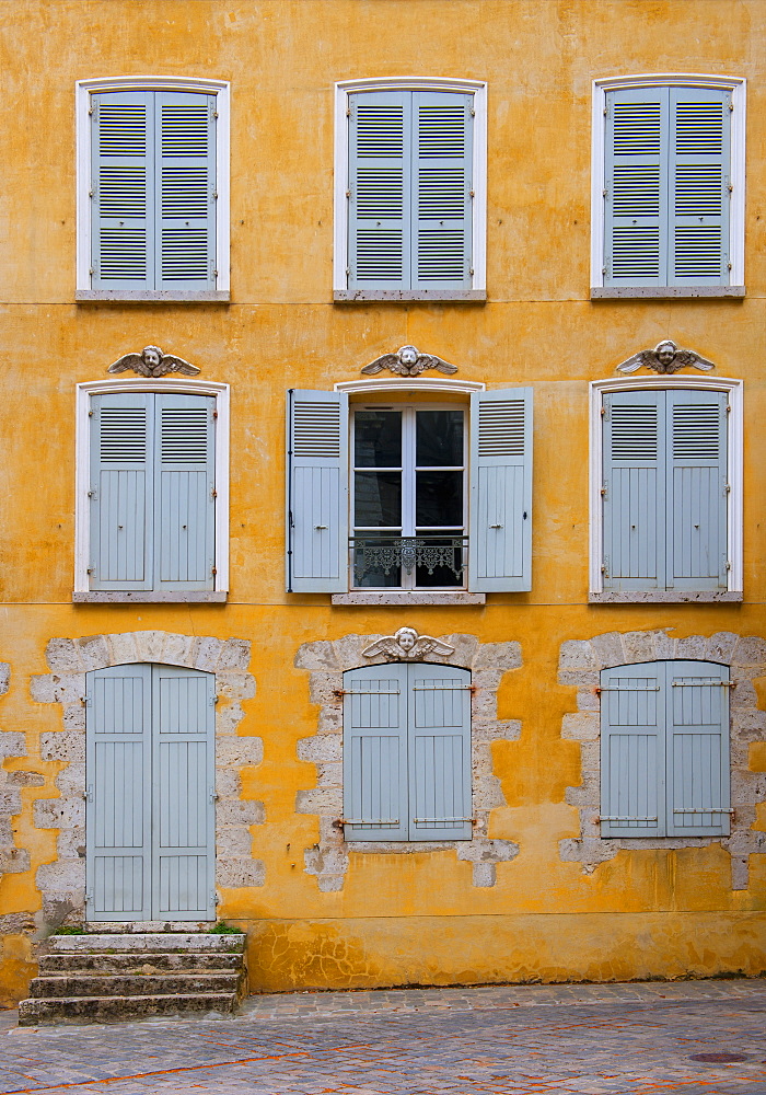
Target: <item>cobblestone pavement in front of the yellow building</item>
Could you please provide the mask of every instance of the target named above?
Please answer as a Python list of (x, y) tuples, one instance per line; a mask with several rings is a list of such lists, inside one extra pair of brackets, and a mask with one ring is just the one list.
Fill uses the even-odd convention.
[(2, 1012), (0, 1092), (761, 1095), (765, 1021), (766, 980), (264, 995), (116, 1026)]

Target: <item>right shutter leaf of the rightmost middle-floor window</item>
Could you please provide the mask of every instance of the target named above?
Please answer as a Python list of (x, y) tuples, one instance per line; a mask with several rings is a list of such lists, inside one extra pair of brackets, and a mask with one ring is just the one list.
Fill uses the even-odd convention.
[(668, 586), (726, 589), (727, 396), (675, 390), (666, 397)]

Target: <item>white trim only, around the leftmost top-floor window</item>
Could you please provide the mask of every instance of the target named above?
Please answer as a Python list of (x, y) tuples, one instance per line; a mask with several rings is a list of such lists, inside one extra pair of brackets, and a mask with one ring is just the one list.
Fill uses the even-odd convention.
[[(104, 91), (199, 91), (216, 95), (216, 288), (193, 292), (174, 290), (112, 290), (91, 288), (91, 95)], [(78, 300), (228, 300), (229, 299), (229, 82), (175, 76), (104, 77), (78, 80), (77, 122), (77, 291)]]

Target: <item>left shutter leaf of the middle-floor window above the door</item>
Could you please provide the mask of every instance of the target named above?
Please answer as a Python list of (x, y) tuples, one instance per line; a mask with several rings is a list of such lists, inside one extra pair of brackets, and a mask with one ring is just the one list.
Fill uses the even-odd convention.
[(94, 395), (91, 411), (91, 589), (151, 589), (154, 396)]

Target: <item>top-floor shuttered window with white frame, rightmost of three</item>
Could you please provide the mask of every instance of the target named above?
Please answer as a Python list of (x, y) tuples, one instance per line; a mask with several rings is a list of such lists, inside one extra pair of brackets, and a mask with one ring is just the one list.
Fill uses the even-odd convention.
[(593, 296), (744, 292), (744, 81), (596, 81)]

